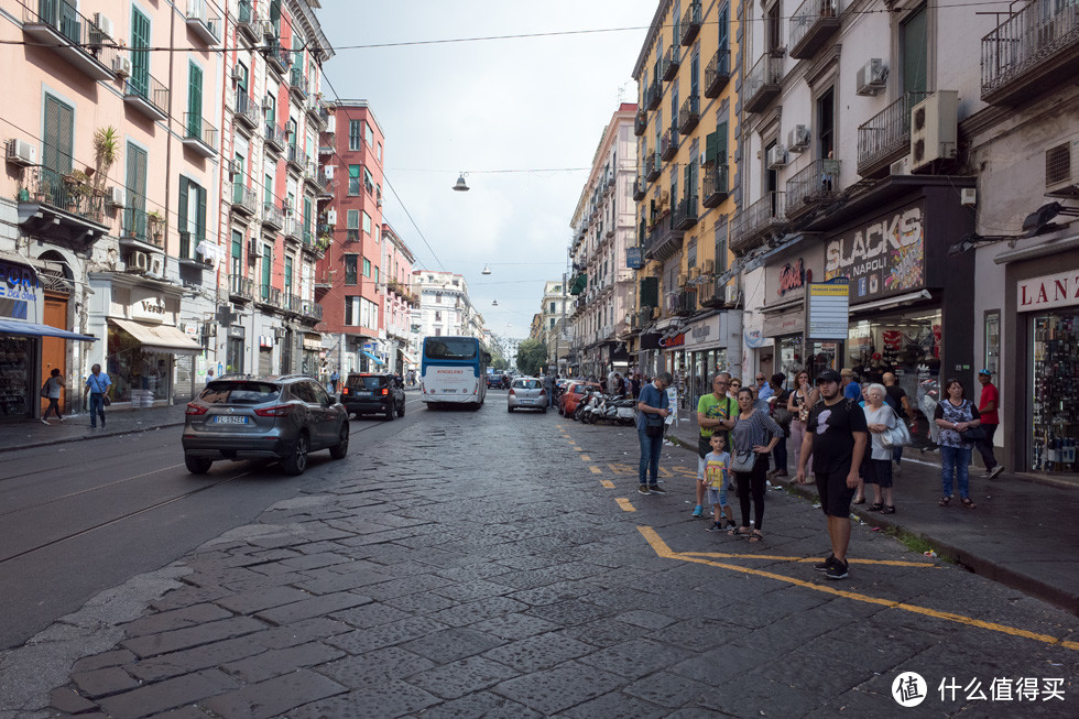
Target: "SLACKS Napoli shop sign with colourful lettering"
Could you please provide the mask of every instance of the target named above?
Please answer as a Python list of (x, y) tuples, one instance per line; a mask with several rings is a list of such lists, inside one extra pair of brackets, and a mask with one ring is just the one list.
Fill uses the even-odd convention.
[(922, 203), (837, 237), (825, 248), (825, 280), (850, 280), (850, 298), (865, 302), (925, 286)]

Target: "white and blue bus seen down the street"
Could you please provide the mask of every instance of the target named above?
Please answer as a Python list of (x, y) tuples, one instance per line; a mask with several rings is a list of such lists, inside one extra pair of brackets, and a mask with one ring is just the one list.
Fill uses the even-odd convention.
[(480, 408), (487, 397), (491, 355), (475, 337), (425, 337), (419, 389), (424, 403), (467, 404)]

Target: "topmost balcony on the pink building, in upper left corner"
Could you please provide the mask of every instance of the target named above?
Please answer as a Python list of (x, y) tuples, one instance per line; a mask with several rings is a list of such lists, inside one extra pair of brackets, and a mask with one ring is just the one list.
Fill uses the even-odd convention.
[(95, 80), (115, 77), (117, 50), (88, 18), (68, 0), (24, 0), (22, 31), (34, 44), (53, 51), (69, 65)]

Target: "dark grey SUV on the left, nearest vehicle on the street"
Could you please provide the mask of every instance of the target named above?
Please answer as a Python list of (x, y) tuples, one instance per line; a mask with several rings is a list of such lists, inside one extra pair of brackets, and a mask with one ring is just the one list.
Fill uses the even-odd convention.
[(187, 404), (184, 460), (195, 475), (217, 459), (280, 459), (302, 475), (307, 454), (348, 454), (348, 413), (309, 377), (224, 377)]

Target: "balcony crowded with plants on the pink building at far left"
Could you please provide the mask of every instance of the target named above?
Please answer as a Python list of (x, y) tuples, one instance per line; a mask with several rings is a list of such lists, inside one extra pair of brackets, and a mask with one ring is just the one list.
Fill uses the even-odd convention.
[(69, 241), (94, 241), (108, 233), (105, 197), (95, 194), (85, 175), (25, 167), (18, 198), (19, 225), (28, 233), (47, 232)]

